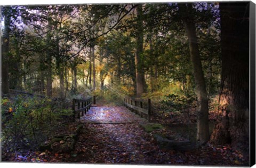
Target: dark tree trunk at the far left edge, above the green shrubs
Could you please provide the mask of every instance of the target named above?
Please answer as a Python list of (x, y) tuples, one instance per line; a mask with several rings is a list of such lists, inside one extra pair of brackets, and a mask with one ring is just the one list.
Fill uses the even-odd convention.
[(4, 30), (2, 38), (2, 92), (3, 94), (9, 93), (9, 63), (8, 63), (8, 53), (9, 53), (9, 34), (10, 34), (10, 16), (11, 7), (3, 7), (4, 15)]

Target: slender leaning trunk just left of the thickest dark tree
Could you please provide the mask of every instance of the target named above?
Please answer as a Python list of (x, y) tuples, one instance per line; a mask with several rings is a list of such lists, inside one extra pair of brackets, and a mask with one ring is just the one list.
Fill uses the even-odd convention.
[(190, 60), (192, 62), (196, 84), (196, 94), (198, 101), (197, 140), (200, 144), (204, 144), (210, 139), (208, 117), (209, 109), (202, 63), (198, 49), (195, 22), (190, 13), (190, 11), (193, 10), (192, 4), (179, 4), (179, 9), (182, 12), (182, 21), (185, 24), (186, 33), (188, 36)]

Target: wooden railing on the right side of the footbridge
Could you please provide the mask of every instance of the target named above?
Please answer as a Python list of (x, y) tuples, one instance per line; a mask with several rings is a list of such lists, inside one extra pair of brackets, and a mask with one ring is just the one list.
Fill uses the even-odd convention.
[(151, 117), (151, 99), (140, 99), (140, 98), (124, 98), (124, 106), (141, 117), (147, 116), (148, 121)]

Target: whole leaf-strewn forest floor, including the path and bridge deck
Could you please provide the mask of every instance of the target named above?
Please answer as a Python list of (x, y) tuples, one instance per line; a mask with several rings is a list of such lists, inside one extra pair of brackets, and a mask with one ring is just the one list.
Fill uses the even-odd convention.
[[(145, 119), (124, 107), (92, 107), (78, 122), (83, 125), (74, 151), (30, 152), (10, 159), (20, 162), (103, 164), (247, 165), (243, 155), (226, 146), (190, 151), (160, 149), (152, 133), (139, 125)], [(171, 130), (162, 130), (172, 134)]]

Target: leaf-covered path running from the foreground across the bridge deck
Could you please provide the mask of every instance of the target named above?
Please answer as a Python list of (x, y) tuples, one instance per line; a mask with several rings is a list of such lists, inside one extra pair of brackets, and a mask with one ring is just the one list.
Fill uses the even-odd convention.
[(165, 158), (170, 164), (168, 153), (160, 151), (154, 138), (139, 126), (147, 121), (124, 107), (92, 107), (80, 122), (83, 130), (73, 162), (159, 164)]

